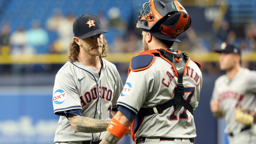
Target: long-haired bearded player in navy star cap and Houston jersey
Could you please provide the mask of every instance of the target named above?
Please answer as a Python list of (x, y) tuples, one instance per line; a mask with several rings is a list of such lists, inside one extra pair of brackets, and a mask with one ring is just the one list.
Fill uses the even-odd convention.
[(100, 20), (81, 15), (73, 24), (69, 61), (58, 71), (53, 89), (54, 113), (60, 115), (54, 143), (98, 144), (117, 111), (123, 89), (116, 66), (106, 57)]

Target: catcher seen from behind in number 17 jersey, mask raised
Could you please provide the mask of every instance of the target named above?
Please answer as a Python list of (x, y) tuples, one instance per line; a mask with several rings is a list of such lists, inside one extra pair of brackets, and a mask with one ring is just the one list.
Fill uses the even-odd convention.
[[(146, 10), (148, 7), (150, 12)], [(190, 17), (176, 0), (150, 0), (143, 5), (140, 14), (137, 27), (143, 28), (146, 51), (130, 63), (131, 71), (117, 102), (118, 112), (101, 144), (116, 144), (131, 123), (132, 138), (136, 143), (194, 143), (196, 128), (192, 111), (198, 105), (202, 86), (200, 64), (188, 58), (185, 65), (183, 62), (187, 57), (182, 56), (185, 54), (170, 49), (174, 42), (179, 42), (174, 36), (190, 26)], [(161, 57), (153, 56), (154, 53)], [(173, 58), (171, 63), (165, 60), (168, 58), (165, 54)], [(181, 69), (181, 78), (177, 78)], [(177, 90), (178, 82), (178, 87), (183, 83), (182, 91)], [(192, 106), (191, 112), (183, 107), (183, 102), (182, 106), (174, 102), (173, 106), (166, 107), (178, 93), (181, 98), (183, 95), (184, 103), (187, 101)]]

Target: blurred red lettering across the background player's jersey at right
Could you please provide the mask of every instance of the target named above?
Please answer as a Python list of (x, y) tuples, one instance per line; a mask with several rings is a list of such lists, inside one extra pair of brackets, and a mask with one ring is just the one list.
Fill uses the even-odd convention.
[(218, 101), (222, 102), (222, 101), (224, 101), (226, 99), (229, 99), (229, 98), (237, 100), (238, 102), (240, 102), (244, 98), (244, 95), (238, 94), (238, 92), (234, 92), (234, 91), (224, 91), (224, 92), (219, 94)]

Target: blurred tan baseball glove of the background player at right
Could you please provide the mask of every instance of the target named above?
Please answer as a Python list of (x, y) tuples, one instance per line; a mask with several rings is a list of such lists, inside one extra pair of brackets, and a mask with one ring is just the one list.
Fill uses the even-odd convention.
[(251, 126), (255, 123), (256, 115), (254, 111), (236, 109), (235, 120), (246, 126)]

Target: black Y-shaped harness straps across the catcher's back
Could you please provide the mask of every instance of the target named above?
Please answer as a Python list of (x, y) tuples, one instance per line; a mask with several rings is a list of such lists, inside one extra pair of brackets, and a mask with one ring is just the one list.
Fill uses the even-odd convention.
[[(172, 98), (171, 100), (165, 103), (162, 103), (161, 105), (157, 105), (153, 108), (141, 108), (139, 111), (139, 114), (142, 114), (142, 116), (148, 116), (155, 113), (161, 113), (167, 108), (171, 106), (176, 106), (176, 105), (185, 107), (191, 114), (193, 114), (193, 107), (190, 105), (189, 102), (184, 100), (184, 98), (182, 97), (182, 95), (184, 94), (183, 74), (185, 71), (185, 65), (188, 62), (188, 55), (184, 52), (181, 54), (169, 53), (169, 52), (166, 52), (164, 49), (158, 49), (158, 51), (163, 57), (168, 59), (174, 65), (174, 69), (176, 69), (177, 71), (177, 74), (178, 74), (177, 91), (175, 93), (174, 98)], [(159, 55), (155, 55), (155, 56), (159, 56)], [(176, 59), (179, 59), (179, 60), (176, 60)]]

